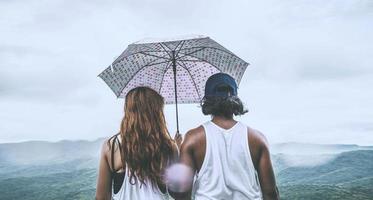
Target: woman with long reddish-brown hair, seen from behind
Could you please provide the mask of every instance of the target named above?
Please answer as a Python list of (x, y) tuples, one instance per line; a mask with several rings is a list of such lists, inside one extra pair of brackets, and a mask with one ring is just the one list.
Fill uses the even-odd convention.
[(103, 144), (96, 199), (168, 199), (165, 169), (178, 155), (154, 90), (128, 92), (120, 132)]

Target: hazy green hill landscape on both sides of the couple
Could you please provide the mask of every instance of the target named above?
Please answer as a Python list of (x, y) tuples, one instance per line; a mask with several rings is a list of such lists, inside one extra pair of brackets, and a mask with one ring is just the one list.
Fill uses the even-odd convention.
[[(96, 141), (0, 144), (0, 199), (93, 199)], [(274, 144), (281, 199), (373, 200), (373, 148), (358, 145)]]

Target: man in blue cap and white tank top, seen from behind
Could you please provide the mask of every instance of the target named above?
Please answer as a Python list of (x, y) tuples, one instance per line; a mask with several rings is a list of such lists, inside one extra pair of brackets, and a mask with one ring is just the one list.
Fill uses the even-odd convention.
[(235, 80), (224, 73), (212, 75), (201, 106), (212, 120), (185, 135), (180, 162), (196, 176), (193, 189), (180, 199), (279, 199), (266, 138), (234, 120), (247, 112)]

